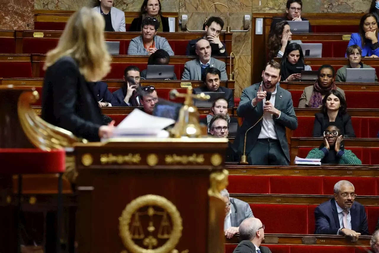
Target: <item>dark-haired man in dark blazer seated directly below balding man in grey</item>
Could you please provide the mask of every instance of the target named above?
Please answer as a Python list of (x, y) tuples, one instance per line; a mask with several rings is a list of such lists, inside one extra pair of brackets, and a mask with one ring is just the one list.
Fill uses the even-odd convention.
[(217, 68), (207, 68), (202, 75), (204, 85), (193, 89), (196, 92), (224, 92), (229, 108), (234, 107), (234, 96), (231, 89), (220, 87), (221, 72)]

